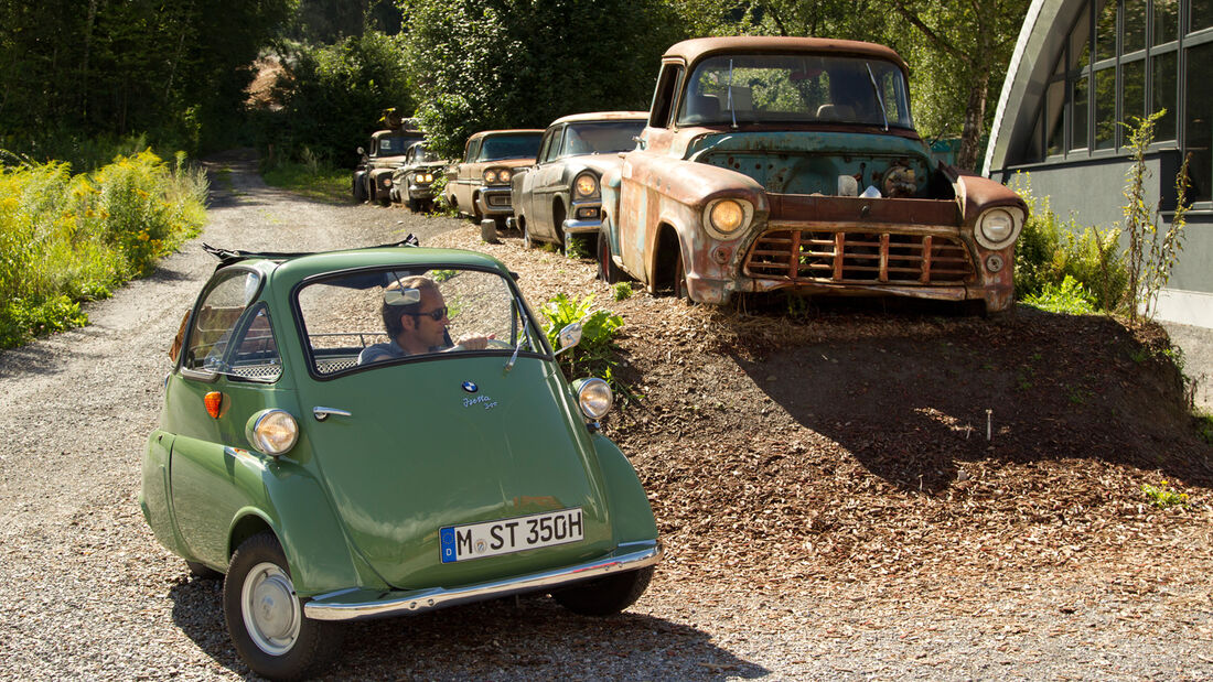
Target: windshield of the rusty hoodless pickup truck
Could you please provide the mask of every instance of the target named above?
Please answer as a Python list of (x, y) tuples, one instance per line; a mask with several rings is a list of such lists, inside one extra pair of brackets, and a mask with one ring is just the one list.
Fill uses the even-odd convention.
[(905, 75), (875, 58), (723, 55), (700, 62), (678, 125), (860, 124), (913, 128)]

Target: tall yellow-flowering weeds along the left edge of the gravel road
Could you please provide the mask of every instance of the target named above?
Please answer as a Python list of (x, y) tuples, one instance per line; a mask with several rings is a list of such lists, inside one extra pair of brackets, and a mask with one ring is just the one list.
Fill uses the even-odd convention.
[(22, 160), (0, 167), (0, 348), (87, 321), (80, 302), (149, 273), (198, 234), (206, 177), (152, 151), (96, 172)]

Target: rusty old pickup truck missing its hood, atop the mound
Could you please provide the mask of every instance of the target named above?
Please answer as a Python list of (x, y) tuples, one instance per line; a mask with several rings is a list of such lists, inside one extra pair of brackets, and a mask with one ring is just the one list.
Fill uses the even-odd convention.
[(639, 148), (603, 178), (602, 276), (713, 304), (792, 290), (1006, 310), (1027, 208), (933, 162), (906, 78), (866, 42), (674, 45)]

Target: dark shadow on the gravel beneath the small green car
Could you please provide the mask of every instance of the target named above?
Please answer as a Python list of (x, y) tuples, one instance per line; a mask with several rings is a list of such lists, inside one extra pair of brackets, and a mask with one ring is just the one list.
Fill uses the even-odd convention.
[[(227, 637), (222, 580), (169, 590), (173, 623), (199, 648), (245, 675)], [(643, 603), (643, 597), (642, 597)], [(767, 669), (695, 627), (625, 612), (575, 615), (542, 595), (344, 625), (330, 680), (753, 680)]]

